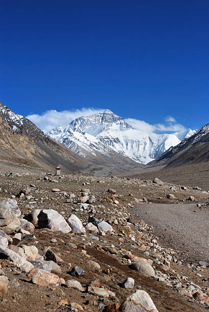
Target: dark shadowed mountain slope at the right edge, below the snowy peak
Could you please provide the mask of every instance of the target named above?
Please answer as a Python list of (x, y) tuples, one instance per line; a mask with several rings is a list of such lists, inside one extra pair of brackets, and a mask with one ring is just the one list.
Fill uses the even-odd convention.
[[(209, 161), (209, 124), (193, 136), (166, 151), (149, 165), (164, 165), (167, 168)], [(209, 170), (209, 168), (208, 168)]]

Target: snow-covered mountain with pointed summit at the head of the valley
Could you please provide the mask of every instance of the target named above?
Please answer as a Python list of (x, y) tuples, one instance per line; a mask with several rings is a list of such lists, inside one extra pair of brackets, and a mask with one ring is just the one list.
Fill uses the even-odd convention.
[(108, 155), (114, 150), (142, 164), (158, 158), (181, 141), (177, 134), (154, 134), (134, 129), (110, 110), (76, 118), (68, 125), (56, 127), (48, 136), (82, 157), (87, 157), (87, 153), (95, 155), (95, 152)]

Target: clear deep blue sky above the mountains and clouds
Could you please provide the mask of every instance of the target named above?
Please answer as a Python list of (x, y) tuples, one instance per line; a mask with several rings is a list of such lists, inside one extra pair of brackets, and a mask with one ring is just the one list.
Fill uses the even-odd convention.
[(209, 122), (208, 0), (1, 0), (0, 101)]

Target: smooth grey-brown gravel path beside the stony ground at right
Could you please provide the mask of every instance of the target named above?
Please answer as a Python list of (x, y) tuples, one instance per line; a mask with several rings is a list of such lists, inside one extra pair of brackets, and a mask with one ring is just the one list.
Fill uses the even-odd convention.
[(152, 225), (162, 245), (179, 250), (182, 259), (208, 261), (208, 207), (198, 208), (195, 203), (144, 204), (131, 213)]

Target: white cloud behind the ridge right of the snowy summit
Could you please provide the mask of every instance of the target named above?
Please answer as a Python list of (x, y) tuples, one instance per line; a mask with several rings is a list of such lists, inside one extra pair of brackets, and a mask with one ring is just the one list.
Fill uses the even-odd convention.
[[(172, 118), (171, 116), (169, 117)], [(172, 119), (175, 120), (174, 118)], [(169, 125), (165, 125), (162, 123), (149, 124), (145, 122), (144, 120), (133, 119), (133, 118), (127, 118), (125, 119), (125, 121), (128, 124), (130, 124), (134, 129), (144, 131), (144, 132), (166, 133), (166, 132), (178, 132), (178, 131), (186, 130), (186, 128), (182, 124), (179, 124), (179, 123), (171, 124), (171, 121)]]

